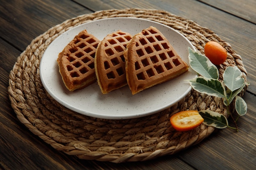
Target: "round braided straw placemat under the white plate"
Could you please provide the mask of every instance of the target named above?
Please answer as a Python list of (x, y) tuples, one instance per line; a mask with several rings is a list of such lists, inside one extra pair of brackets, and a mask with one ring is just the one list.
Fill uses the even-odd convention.
[[(193, 90), (182, 101), (167, 110), (146, 117), (124, 120), (98, 119), (81, 115), (56, 102), (45, 91), (40, 80), (39, 64), (47, 46), (58, 35), (74, 26), (111, 17), (145, 18), (165, 24), (182, 33), (202, 53), (206, 42), (219, 42), (228, 52), (226, 62), (218, 66), (220, 79), (227, 66), (238, 66), (246, 79), (247, 72), (242, 59), (229, 43), (191, 20), (160, 10), (97, 11), (52, 27), (32, 40), (18, 57), (9, 75), (8, 93), (11, 106), (22, 124), (56, 150), (76, 155), (80, 159), (115, 163), (146, 161), (175, 154), (208, 137), (214, 131), (213, 127), (202, 124), (188, 132), (177, 132), (169, 121), (172, 114), (181, 110), (209, 109), (227, 116), (220, 98)], [(246, 87), (240, 93), (241, 96), (245, 90)]]

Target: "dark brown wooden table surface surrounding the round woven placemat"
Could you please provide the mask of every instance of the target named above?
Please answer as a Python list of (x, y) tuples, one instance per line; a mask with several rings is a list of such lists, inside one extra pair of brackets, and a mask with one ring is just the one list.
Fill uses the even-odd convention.
[[(243, 99), (247, 114), (239, 132), (217, 130), (200, 144), (175, 155), (143, 162), (110, 163), (66, 155), (32, 134), (11, 108), (9, 72), (31, 40), (52, 26), (99, 10), (161, 9), (193, 20), (217, 33), (242, 56), (251, 83)], [(4, 170), (188, 169), (252, 170), (256, 168), (256, 1), (255, 0), (1, 0), (0, 3), (0, 168)]]

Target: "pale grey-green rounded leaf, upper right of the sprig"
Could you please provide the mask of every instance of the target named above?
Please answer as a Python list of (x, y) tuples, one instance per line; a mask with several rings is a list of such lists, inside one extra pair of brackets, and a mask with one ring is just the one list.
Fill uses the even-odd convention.
[(245, 83), (245, 79), (242, 77), (242, 75), (242, 72), (237, 66), (229, 66), (223, 73), (224, 84), (231, 91), (235, 91)]

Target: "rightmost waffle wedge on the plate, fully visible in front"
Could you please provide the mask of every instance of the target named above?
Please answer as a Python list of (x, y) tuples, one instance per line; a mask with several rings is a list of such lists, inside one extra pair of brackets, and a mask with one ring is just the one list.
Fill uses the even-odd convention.
[(189, 66), (155, 27), (133, 36), (124, 52), (126, 79), (132, 95), (173, 79)]

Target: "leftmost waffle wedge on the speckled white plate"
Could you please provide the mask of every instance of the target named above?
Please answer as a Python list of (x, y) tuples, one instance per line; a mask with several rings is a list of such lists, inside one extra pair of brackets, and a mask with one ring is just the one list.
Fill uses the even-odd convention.
[(99, 42), (97, 38), (83, 30), (59, 53), (59, 72), (69, 91), (96, 82), (94, 57)]

